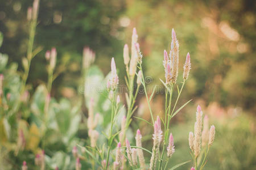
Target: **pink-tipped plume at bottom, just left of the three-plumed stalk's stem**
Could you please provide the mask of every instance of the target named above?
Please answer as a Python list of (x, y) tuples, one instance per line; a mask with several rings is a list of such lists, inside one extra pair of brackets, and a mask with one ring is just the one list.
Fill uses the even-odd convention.
[(159, 147), (160, 142), (162, 141), (162, 130), (161, 130), (161, 122), (159, 116), (157, 117), (155, 124), (154, 124), (154, 134), (153, 134), (153, 148), (152, 148), (152, 155), (150, 159), (150, 169), (155, 169), (156, 167), (156, 160), (159, 156)]

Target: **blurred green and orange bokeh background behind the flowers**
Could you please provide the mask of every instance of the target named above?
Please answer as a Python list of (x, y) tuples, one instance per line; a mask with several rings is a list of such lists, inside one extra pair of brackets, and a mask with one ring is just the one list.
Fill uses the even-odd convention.
[[(21, 58), (26, 55), (28, 41), (27, 7), (32, 1), (0, 0), (0, 4), (3, 36), (0, 52), (9, 56), (9, 63), (19, 63), (18, 70), (22, 70)], [(180, 158), (190, 159), (187, 137), (193, 129), (196, 105), (200, 104), (217, 130), (205, 169), (254, 169), (255, 5), (253, 0), (42, 0), (35, 46), (42, 46), (43, 50), (31, 63), (28, 76), (31, 95), (47, 80), (44, 54), (52, 46), (57, 49), (60, 70), (52, 88), (56, 100), (65, 97), (72, 101), (81, 95), (77, 87), (82, 86), (79, 78), (85, 45), (96, 52), (95, 64), (104, 75), (109, 73), (110, 58), (114, 57), (120, 83), (124, 84), (122, 50), (124, 44), (130, 45), (133, 27), (139, 36), (143, 69), (152, 78), (148, 88), (160, 84), (159, 78), (164, 79), (163, 50), (170, 50), (171, 28), (174, 28), (180, 42), (180, 68), (187, 52), (192, 62), (181, 103), (193, 101), (172, 124), (177, 141), (172, 161), (175, 164)], [(143, 95), (138, 97), (137, 105), (142, 112), (145, 100)], [(155, 95), (152, 105), (156, 114), (163, 113), (163, 101), (162, 94)], [(143, 115), (147, 118), (146, 104), (144, 108)]]

